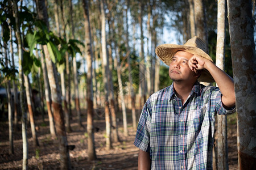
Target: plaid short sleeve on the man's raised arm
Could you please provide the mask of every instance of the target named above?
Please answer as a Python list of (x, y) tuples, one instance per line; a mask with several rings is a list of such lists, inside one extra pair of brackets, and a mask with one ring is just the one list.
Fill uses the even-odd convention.
[(236, 106), (229, 108), (229, 109), (225, 109), (222, 105), (222, 101), (221, 101), (221, 97), (222, 94), (220, 92), (220, 89), (217, 87), (213, 88), (213, 91), (211, 93), (211, 105), (215, 107), (215, 112), (218, 114), (232, 114), (234, 112), (236, 112)]

